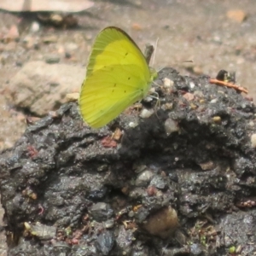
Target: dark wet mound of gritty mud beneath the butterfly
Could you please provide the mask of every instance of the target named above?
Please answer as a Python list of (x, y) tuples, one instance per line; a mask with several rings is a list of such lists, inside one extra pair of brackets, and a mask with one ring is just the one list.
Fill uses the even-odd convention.
[(9, 255), (256, 251), (253, 103), (172, 69), (156, 83), (147, 119), (95, 131), (69, 103), (1, 154)]

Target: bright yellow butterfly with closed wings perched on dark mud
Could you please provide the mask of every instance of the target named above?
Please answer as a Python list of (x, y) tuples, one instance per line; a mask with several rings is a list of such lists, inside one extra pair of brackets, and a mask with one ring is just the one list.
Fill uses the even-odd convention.
[(84, 121), (93, 128), (107, 125), (142, 100), (156, 77), (130, 36), (118, 27), (106, 27), (92, 46), (80, 90), (79, 109)]

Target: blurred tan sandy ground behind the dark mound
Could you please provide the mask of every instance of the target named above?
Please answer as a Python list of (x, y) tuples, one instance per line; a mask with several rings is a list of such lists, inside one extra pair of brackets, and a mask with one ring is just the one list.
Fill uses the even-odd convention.
[[(61, 94), (65, 91), (79, 90), (90, 45), (96, 33), (105, 26), (121, 27), (141, 49), (147, 43), (155, 44), (158, 39), (152, 63), (156, 69), (174, 67), (183, 75), (203, 73), (211, 77), (215, 77), (220, 69), (236, 71), (237, 83), (247, 87), (248, 96), (256, 100), (253, 86), (256, 5), (253, 0), (218, 3), (201, 0), (96, 1), (92, 8), (74, 17), (79, 21), (78, 27), (56, 29), (42, 25), (35, 15), (0, 12), (1, 149), (12, 147), (23, 133), (27, 114), (44, 115), (58, 107), (55, 102), (61, 102)], [(26, 67), (31, 61), (38, 62)], [(68, 81), (65, 90), (59, 90), (58, 86), (44, 90), (48, 73), (33, 76), (35, 67), (45, 61), (55, 61), (52, 68), (55, 79), (60, 85)], [(61, 65), (75, 67), (73, 76), (67, 73), (66, 66)], [(25, 67), (31, 87), (20, 85), (24, 77), (17, 76)], [(43, 64), (40, 68), (45, 70)], [(29, 102), (23, 100), (26, 93), (30, 98), (38, 96)], [(43, 98), (44, 95), (48, 97)], [(52, 97), (57, 100), (52, 102)], [(43, 100), (39, 101), (40, 98)], [(44, 111), (40, 112), (42, 109)], [(1, 241), (0, 255), (6, 255), (3, 234)]]

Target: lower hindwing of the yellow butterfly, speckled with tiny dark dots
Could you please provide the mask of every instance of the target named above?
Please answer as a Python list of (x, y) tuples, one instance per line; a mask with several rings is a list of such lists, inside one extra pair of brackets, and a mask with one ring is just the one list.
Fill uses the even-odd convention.
[(84, 106), (80, 112), (90, 126), (98, 128), (108, 124), (125, 108), (143, 98), (143, 90), (131, 86), (140, 82), (136, 76), (127, 79), (131, 84), (125, 84), (122, 76), (113, 75), (123, 72), (122, 67), (115, 66), (113, 72), (98, 70), (86, 79), (79, 104)]

